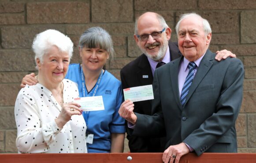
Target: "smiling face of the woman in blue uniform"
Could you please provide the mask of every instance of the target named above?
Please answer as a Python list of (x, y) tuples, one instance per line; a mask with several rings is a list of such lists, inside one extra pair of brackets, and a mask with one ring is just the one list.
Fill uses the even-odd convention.
[(101, 71), (106, 64), (109, 54), (106, 50), (100, 48), (79, 48), (83, 67), (87, 71)]

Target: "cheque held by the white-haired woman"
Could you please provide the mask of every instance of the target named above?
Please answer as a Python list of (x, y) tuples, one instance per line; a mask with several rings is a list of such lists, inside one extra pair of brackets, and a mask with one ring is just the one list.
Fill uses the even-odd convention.
[(104, 103), (102, 96), (81, 97), (74, 99), (75, 103), (81, 105), (80, 109), (83, 111), (97, 111), (104, 110)]

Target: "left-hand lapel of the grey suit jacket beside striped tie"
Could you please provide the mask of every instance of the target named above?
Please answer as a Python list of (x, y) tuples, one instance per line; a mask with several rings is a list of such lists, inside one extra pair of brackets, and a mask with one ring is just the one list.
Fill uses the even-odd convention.
[(170, 78), (171, 78), (171, 86), (174, 93), (174, 98), (178, 103), (180, 110), (182, 110), (182, 105), (180, 102), (180, 95), (179, 95), (179, 87), (178, 87), (178, 72), (179, 72), (179, 64), (183, 57), (178, 58), (177, 60), (172, 61), (170, 64)]

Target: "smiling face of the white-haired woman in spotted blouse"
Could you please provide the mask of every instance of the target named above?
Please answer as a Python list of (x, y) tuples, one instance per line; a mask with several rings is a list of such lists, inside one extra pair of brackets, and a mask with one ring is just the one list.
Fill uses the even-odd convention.
[(38, 74), (40, 82), (45, 84), (59, 84), (67, 74), (69, 65), (69, 54), (61, 52), (57, 46), (52, 46), (43, 60), (37, 59)]

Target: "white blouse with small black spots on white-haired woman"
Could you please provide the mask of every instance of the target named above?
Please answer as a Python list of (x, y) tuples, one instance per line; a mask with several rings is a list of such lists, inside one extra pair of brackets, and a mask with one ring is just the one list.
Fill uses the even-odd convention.
[[(63, 80), (64, 103), (79, 97), (74, 82)], [(26, 85), (15, 102), (16, 145), (19, 153), (86, 153), (86, 125), (82, 115), (73, 115), (59, 129), (55, 123), (61, 106), (43, 85)]]

